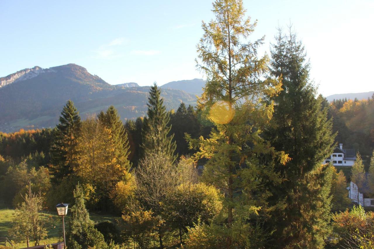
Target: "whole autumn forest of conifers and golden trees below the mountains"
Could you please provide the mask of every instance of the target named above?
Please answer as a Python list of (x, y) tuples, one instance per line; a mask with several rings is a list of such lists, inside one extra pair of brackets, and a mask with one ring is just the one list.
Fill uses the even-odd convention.
[[(212, 12), (196, 106), (167, 110), (154, 83), (135, 120), (69, 100), (53, 128), (0, 133), (2, 236), (43, 245), (54, 227), (61, 241), (63, 202), (68, 248), (374, 248), (374, 212), (346, 189), (374, 196), (374, 95), (328, 102), (292, 26), (261, 55), (241, 0)], [(349, 171), (323, 164), (338, 143), (357, 153)]]

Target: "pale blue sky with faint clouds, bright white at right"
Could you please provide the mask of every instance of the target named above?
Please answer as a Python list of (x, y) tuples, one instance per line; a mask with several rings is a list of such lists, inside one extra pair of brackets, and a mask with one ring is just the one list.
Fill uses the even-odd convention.
[[(374, 0), (243, 0), (258, 20), (249, 40), (291, 23), (324, 96), (374, 90)], [(110, 84), (149, 86), (203, 78), (196, 70), (211, 0), (0, 0), (0, 77), (24, 68), (75, 63)]]

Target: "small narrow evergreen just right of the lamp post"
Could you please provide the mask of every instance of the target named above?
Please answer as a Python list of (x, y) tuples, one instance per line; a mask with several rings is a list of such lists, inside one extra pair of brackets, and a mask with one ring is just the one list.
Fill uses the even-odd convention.
[(82, 186), (78, 183), (74, 190), (74, 205), (70, 209), (71, 218), (68, 246), (71, 248), (108, 248), (104, 236), (94, 227), (86, 209)]

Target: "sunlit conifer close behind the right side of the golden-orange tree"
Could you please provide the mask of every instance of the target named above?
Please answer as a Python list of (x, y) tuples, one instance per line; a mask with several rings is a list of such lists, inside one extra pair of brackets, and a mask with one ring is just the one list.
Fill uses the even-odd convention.
[(117, 109), (111, 105), (105, 114), (102, 111), (99, 113), (98, 119), (107, 129), (111, 130), (111, 138), (114, 143), (114, 154), (116, 155), (117, 163), (128, 171), (130, 169), (130, 162), (128, 160), (130, 154), (128, 135)]

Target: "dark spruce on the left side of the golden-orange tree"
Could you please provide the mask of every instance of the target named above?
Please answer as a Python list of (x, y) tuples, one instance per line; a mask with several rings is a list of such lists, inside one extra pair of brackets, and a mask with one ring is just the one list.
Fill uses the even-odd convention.
[(51, 148), (55, 179), (69, 176), (76, 166), (77, 138), (80, 132), (79, 111), (69, 100), (62, 109)]

